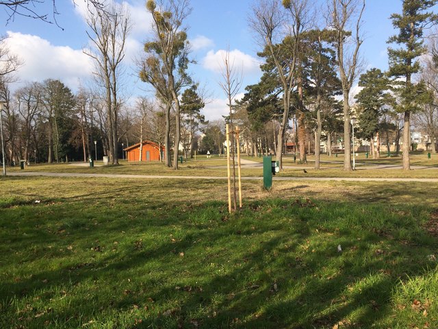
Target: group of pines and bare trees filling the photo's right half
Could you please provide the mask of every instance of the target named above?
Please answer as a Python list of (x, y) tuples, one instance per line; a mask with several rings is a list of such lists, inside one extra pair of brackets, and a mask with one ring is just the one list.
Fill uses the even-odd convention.
[[(300, 161), (306, 162), (306, 136), (313, 132), (315, 168), (319, 169), (322, 132), (331, 145), (331, 136), (339, 130), (342, 119), (344, 170), (350, 171), (350, 118), (354, 114), (359, 116), (359, 136), (372, 140), (372, 145), (374, 138), (379, 139), (379, 131), (386, 132), (387, 141), (394, 131), (398, 143), (402, 130), (403, 168), (408, 170), (411, 114), (418, 114), (417, 123), (428, 127), (435, 138), (430, 129), (431, 112), (435, 110), (434, 77), (430, 75), (436, 71), (435, 64), (430, 60), (426, 63), (427, 76), (418, 73), (419, 58), (427, 51), (424, 30), (437, 22), (437, 15), (428, 10), (436, 3), (404, 0), (402, 13), (391, 16), (398, 34), (388, 40), (389, 71), (372, 69), (361, 75), (359, 86), (363, 90), (356, 97), (359, 106), (353, 111), (350, 90), (363, 69), (359, 50), (365, 0), (329, 0), (323, 16), (318, 16), (314, 3), (307, 0), (257, 1), (249, 23), (262, 47), (259, 56), (265, 60), (261, 66), (263, 76), (258, 84), (246, 87), (245, 97), (239, 102), (248, 112), (250, 132), (263, 134), (266, 122), (276, 123), (276, 156), (281, 165), (286, 132), (292, 116), (296, 117), (294, 139)], [(341, 95), (342, 101), (335, 101)], [(422, 110), (428, 115), (421, 115)]]

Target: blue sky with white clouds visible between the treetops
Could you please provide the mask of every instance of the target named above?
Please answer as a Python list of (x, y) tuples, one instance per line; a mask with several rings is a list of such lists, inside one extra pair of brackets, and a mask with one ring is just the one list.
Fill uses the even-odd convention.
[[(279, 0), (280, 1), (280, 0)], [(8, 13), (0, 6), (0, 34), (8, 35), (10, 51), (24, 62), (17, 72), (18, 88), (26, 82), (59, 79), (73, 91), (88, 84), (93, 71), (92, 60), (83, 54), (88, 45), (83, 12), (85, 1), (57, 0), (57, 24), (15, 16), (8, 20)], [(121, 1), (119, 1), (121, 2)], [(123, 1), (131, 12), (133, 28), (127, 40), (125, 93), (129, 99), (150, 95), (151, 87), (138, 79), (136, 58), (142, 54), (144, 41), (151, 31), (151, 17), (146, 12), (144, 0)], [(362, 31), (365, 41), (361, 53), (367, 69), (387, 69), (387, 39), (396, 34), (389, 17), (400, 12), (402, 0), (367, 0)], [(236, 67), (242, 68), (242, 87), (255, 84), (261, 77), (257, 58), (260, 47), (248, 27), (248, 15), (254, 0), (192, 0), (192, 13), (188, 17), (188, 38), (192, 45), (191, 56), (196, 64), (190, 66), (194, 80), (206, 90), (208, 101), (203, 109), (207, 120), (221, 119), (227, 114), (226, 95), (219, 82), (222, 52), (229, 49)], [(324, 12), (326, 0), (318, 3), (318, 13)], [(51, 1), (45, 0), (41, 8), (51, 12)], [(38, 8), (39, 9), (39, 8)], [(49, 17), (49, 19), (53, 18)], [(357, 86), (353, 87), (357, 88)]]

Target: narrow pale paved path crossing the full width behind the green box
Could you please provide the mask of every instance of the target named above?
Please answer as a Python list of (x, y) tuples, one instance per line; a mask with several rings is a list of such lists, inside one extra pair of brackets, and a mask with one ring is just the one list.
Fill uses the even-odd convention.
[[(227, 180), (224, 176), (181, 176), (181, 175), (122, 175), (112, 173), (46, 173), (46, 172), (14, 172), (10, 176), (44, 176), (44, 177), (83, 177), (83, 178), (144, 178), (149, 180)], [(263, 177), (242, 177), (242, 180), (263, 180)], [(330, 178), (330, 177), (274, 177), (277, 181), (347, 181), (347, 182), (438, 182), (438, 178)]]

